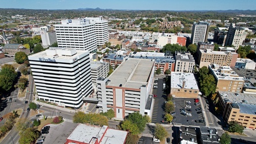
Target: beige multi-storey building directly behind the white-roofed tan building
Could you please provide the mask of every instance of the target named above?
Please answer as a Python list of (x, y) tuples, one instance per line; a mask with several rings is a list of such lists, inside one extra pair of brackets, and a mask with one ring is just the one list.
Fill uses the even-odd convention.
[(195, 60), (193, 55), (176, 51), (175, 71), (193, 73)]

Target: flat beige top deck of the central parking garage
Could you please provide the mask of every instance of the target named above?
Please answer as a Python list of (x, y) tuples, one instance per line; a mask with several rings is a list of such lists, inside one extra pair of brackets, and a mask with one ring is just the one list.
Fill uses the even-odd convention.
[(148, 84), (148, 78), (154, 66), (154, 62), (146, 59), (128, 59), (119, 65), (108, 77), (109, 86), (140, 89)]

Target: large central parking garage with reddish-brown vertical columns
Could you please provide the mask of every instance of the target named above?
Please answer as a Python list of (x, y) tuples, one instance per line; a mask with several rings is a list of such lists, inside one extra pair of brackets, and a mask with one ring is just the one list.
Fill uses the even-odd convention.
[(108, 78), (97, 79), (100, 111), (112, 108), (115, 118), (123, 119), (133, 112), (152, 116), (153, 95), (150, 94), (155, 75), (155, 62), (127, 59)]

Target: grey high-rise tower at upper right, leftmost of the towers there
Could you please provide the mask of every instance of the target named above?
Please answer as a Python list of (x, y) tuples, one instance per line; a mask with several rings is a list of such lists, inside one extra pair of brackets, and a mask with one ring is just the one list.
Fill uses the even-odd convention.
[(207, 42), (210, 25), (208, 22), (199, 21), (194, 22), (191, 35), (191, 43)]

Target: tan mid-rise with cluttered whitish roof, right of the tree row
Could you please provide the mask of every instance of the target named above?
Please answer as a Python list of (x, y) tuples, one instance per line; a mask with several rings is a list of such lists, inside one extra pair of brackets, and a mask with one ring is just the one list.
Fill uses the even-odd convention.
[(213, 75), (217, 88), (216, 91), (242, 92), (244, 78), (239, 77), (229, 66), (209, 65), (209, 73)]

